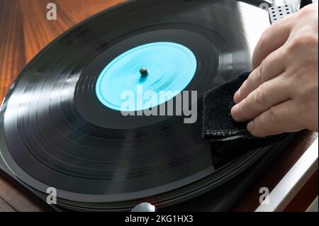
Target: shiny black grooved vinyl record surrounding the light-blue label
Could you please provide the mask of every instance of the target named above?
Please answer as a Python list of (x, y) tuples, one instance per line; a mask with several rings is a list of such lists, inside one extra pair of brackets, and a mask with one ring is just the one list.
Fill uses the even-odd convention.
[[(73, 209), (164, 207), (211, 190), (267, 152), (227, 164), (214, 157), (201, 137), (201, 98), (251, 69), (268, 26), (266, 11), (242, 1), (140, 0), (103, 11), (45, 47), (13, 83), (1, 106), (1, 157), (23, 183), (43, 197), (57, 188), (60, 205)], [(194, 124), (181, 116), (123, 117), (96, 96), (108, 63), (155, 42), (196, 56), (184, 89), (198, 92)]]

